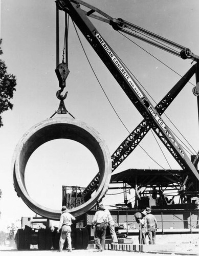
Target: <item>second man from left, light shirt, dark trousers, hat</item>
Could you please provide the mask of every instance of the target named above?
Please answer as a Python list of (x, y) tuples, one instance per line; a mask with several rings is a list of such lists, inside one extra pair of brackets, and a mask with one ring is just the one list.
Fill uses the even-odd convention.
[(97, 251), (103, 251), (105, 247), (106, 226), (108, 225), (108, 216), (103, 204), (99, 204), (92, 222), (92, 228), (95, 226), (94, 241)]

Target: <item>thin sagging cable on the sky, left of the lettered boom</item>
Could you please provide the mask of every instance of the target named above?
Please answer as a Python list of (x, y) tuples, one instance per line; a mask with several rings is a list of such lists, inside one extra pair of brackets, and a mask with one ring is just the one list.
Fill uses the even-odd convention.
[[(79, 34), (78, 34), (78, 32), (77, 32), (77, 29), (76, 29), (76, 27), (75, 27), (74, 22), (73, 22), (73, 25), (74, 25), (75, 31), (76, 31), (76, 33), (77, 33), (78, 39), (79, 39), (79, 41), (80, 41), (81, 47), (82, 47), (82, 49), (83, 49), (83, 52), (84, 52), (84, 54), (85, 54), (85, 56), (86, 56), (86, 59), (87, 59), (87, 61), (89, 62), (89, 65), (90, 65), (90, 67), (91, 67), (91, 69), (92, 69), (92, 71), (93, 71), (93, 73), (94, 73), (94, 75), (95, 75), (95, 77), (96, 77), (96, 79), (97, 79), (97, 81), (98, 81), (98, 83), (99, 83), (99, 85), (100, 85), (100, 87), (101, 87), (103, 93), (105, 94), (105, 96), (106, 96), (106, 98), (107, 98), (109, 104), (112, 106), (112, 108), (113, 108), (114, 112), (116, 113), (117, 117), (119, 118), (119, 120), (121, 121), (121, 123), (123, 124), (123, 126), (125, 127), (126, 131), (130, 134), (130, 131), (127, 129), (126, 125), (123, 123), (123, 121), (121, 120), (121, 118), (120, 118), (119, 115), (117, 114), (116, 110), (114, 109), (113, 104), (112, 104), (112, 103), (110, 102), (110, 100), (108, 99), (108, 96), (106, 95), (106, 93), (105, 93), (105, 91), (104, 91), (104, 89), (103, 89), (103, 87), (102, 87), (102, 85), (101, 85), (101, 83), (100, 83), (100, 81), (99, 81), (99, 79), (98, 79), (98, 77), (97, 77), (97, 75), (96, 75), (96, 73), (95, 73), (95, 71), (94, 71), (92, 65), (91, 65), (91, 62), (90, 62), (89, 58), (88, 58), (87, 55), (86, 55), (86, 52), (85, 52), (85, 50), (84, 50), (84, 48), (83, 48), (81, 39), (80, 39), (80, 37), (79, 37)], [(113, 52), (114, 52), (114, 51), (113, 51)], [(144, 150), (144, 148), (143, 148), (140, 144), (139, 144), (139, 146), (140, 146), (140, 147), (142, 148), (142, 150), (151, 158), (151, 160), (153, 160), (156, 164), (158, 164), (161, 168), (163, 168), (156, 160), (154, 160), (154, 159)], [(163, 168), (163, 169), (165, 169), (165, 168)]]

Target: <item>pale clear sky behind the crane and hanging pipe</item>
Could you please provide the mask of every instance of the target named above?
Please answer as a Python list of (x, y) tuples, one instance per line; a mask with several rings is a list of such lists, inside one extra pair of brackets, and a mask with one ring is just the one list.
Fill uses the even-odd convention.
[[(123, 18), (146, 30), (185, 46), (199, 55), (197, 0), (85, 0), (85, 2), (115, 18)], [(58, 109), (59, 90), (56, 68), (56, 7), (53, 0), (2, 0), (1, 1), (1, 56), (8, 73), (17, 79), (16, 92), (11, 100), (13, 110), (2, 114), (4, 126), (0, 129), (0, 230), (24, 216), (35, 213), (16, 196), (12, 181), (12, 157), (20, 138), (33, 125), (50, 118)], [(94, 26), (110, 47), (138, 78), (144, 90), (159, 102), (180, 79), (180, 76), (149, 54), (132, 44), (106, 23), (93, 20)], [(64, 13), (60, 12), (60, 61), (64, 42)], [(78, 31), (85, 52), (108, 99), (122, 122), (131, 132), (143, 120), (112, 77), (95, 51)], [(130, 38), (146, 51), (163, 61), (180, 75), (191, 67), (191, 60), (182, 60), (165, 51)], [(128, 136), (128, 131), (110, 106), (81, 48), (70, 19), (69, 70), (65, 91), (65, 106), (77, 119), (93, 127), (109, 148), (110, 155)], [(195, 77), (166, 110), (166, 115), (198, 151), (198, 118), (196, 97), (192, 93)], [(148, 96), (148, 95), (147, 95)], [(148, 96), (149, 97), (149, 96)], [(151, 98), (149, 97), (151, 100)], [(153, 105), (156, 105), (151, 100)], [(59, 117), (55, 115), (55, 118)], [(166, 116), (162, 116), (170, 129), (184, 141)], [(185, 142), (185, 141), (184, 141)], [(161, 142), (160, 142), (161, 144)], [(187, 143), (186, 143), (187, 144)], [(151, 132), (141, 142), (151, 158), (137, 147), (115, 170), (129, 168), (170, 168)], [(180, 166), (161, 148), (171, 168)], [(190, 146), (189, 146), (190, 148)], [(193, 150), (192, 150), (193, 151)], [(190, 154), (188, 154), (190, 156)], [(153, 161), (152, 159), (156, 160)], [(31, 198), (43, 206), (60, 209), (62, 185), (86, 186), (97, 174), (98, 167), (92, 153), (81, 144), (69, 140), (50, 141), (40, 146), (30, 157), (26, 167), (25, 182)], [(110, 193), (119, 193), (110, 190)], [(128, 195), (132, 200), (132, 194)], [(105, 205), (123, 202), (123, 195), (106, 196)]]

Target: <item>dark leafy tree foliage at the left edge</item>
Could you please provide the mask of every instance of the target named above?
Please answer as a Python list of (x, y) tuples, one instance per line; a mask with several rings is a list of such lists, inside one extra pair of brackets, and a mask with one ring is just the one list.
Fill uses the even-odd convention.
[[(2, 39), (0, 39), (0, 55), (3, 54), (2, 51)], [(13, 93), (16, 91), (16, 77), (12, 74), (7, 73), (7, 66), (5, 61), (0, 59), (1, 69), (0, 69), (0, 127), (3, 126), (1, 114), (13, 108), (13, 104), (10, 99), (13, 98)]]

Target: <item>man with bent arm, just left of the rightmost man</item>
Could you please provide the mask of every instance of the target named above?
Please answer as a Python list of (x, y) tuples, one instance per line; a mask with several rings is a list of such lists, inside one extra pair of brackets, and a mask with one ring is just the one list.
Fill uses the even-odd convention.
[(140, 230), (139, 230), (139, 236), (138, 236), (138, 240), (140, 244), (147, 244), (146, 242), (147, 222), (146, 222), (145, 216), (146, 216), (145, 211), (142, 211), (141, 213), (136, 212), (135, 214), (136, 222), (140, 224)]

